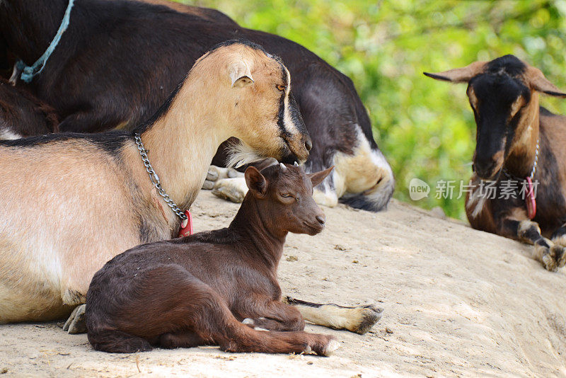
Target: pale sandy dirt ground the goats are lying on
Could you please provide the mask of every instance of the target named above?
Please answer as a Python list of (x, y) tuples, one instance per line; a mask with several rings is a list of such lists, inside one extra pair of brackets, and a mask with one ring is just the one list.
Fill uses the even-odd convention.
[[(237, 209), (202, 192), (195, 231)], [(529, 246), (396, 201), (379, 214), (325, 212), (322, 234), (288, 237), (284, 293), (385, 309), (364, 336), (307, 326), (340, 340), (335, 355), (107, 354), (56, 323), (25, 323), (0, 326), (0, 377), (566, 377), (566, 276)]]

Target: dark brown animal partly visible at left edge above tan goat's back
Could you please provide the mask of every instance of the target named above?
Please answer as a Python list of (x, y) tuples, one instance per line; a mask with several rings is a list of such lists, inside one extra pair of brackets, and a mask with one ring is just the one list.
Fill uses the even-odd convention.
[(0, 139), (18, 139), (59, 131), (54, 109), (24, 88), (0, 78)]

